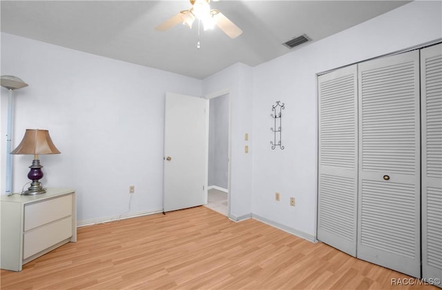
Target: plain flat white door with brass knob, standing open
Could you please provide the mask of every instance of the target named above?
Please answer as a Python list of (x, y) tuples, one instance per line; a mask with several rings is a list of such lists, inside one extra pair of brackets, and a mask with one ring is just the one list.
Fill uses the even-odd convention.
[(208, 101), (166, 94), (163, 210), (206, 203)]

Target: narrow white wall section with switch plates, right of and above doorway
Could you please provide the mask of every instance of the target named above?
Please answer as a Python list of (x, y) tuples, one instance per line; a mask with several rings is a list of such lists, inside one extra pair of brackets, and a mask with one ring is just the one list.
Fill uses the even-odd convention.
[[(203, 80), (204, 96), (230, 94), (231, 106), (231, 178), (229, 180), (229, 217), (242, 220), (251, 216), (252, 68), (243, 63), (213, 74)], [(249, 141), (244, 134), (249, 133)], [(249, 153), (244, 152), (249, 145)]]

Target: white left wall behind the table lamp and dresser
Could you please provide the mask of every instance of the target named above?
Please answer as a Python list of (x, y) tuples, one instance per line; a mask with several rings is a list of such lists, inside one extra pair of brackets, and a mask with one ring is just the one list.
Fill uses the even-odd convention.
[[(200, 96), (202, 81), (4, 33), (1, 74), (29, 84), (16, 91), (12, 148), (27, 128), (49, 130), (61, 154), (40, 156), (41, 181), (77, 189), (79, 224), (127, 211), (129, 185), (135, 194), (127, 215), (162, 210), (164, 94)], [(2, 145), (7, 96), (1, 88)], [(17, 192), (32, 156), (13, 160)]]

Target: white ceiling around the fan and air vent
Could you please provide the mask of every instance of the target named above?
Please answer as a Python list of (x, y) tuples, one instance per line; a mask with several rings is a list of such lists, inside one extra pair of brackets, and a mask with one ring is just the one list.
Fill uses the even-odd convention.
[(188, 0), (1, 0), (0, 9), (2, 32), (204, 79), (237, 62), (255, 66), (291, 52), (282, 43), (294, 37), (307, 34), (309, 43), (318, 41), (408, 2), (211, 2), (243, 33), (230, 39), (218, 28), (202, 32), (199, 50), (198, 23), (192, 30), (181, 24), (166, 32), (154, 30), (189, 9)]

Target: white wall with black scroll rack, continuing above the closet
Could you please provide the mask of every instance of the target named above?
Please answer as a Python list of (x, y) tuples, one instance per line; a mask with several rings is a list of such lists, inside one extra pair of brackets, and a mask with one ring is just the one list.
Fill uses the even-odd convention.
[[(441, 1), (414, 1), (253, 68), (253, 215), (316, 237), (316, 74), (440, 39), (441, 11)], [(284, 150), (269, 144), (275, 101), (285, 103)], [(289, 206), (291, 196), (296, 207)]]

